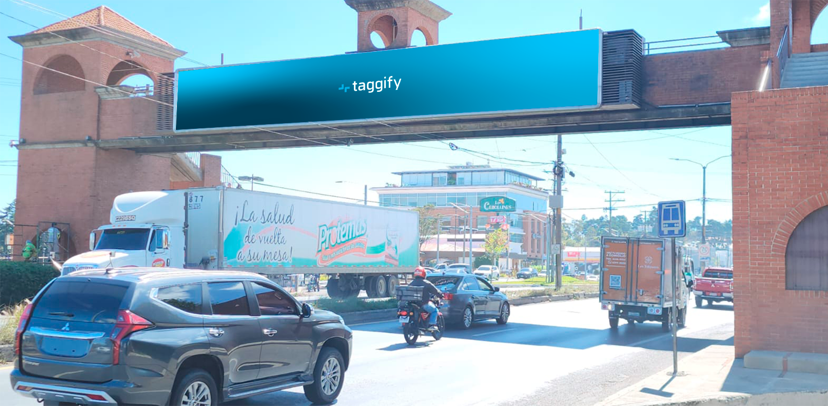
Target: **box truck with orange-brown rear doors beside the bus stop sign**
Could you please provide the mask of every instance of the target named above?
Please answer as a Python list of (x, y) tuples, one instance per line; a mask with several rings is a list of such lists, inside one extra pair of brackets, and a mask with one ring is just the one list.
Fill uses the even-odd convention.
[[(682, 272), (681, 247), (672, 255), (669, 239), (602, 237), (599, 300), (609, 311), (609, 326), (616, 329), (619, 319), (661, 321), (670, 327), (673, 301), (678, 308), (677, 322), (684, 326), (691, 282)], [(673, 264), (671, 261), (676, 261)], [(672, 269), (680, 274), (676, 292), (672, 290)]]

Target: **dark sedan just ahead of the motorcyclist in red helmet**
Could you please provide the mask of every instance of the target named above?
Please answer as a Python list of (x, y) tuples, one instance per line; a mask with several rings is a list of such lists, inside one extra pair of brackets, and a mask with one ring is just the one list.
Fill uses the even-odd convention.
[(427, 279), (445, 296), (440, 307), (445, 321), (467, 329), (472, 321), (495, 319), (506, 324), (509, 320), (506, 295), (486, 279), (468, 273), (437, 273)]

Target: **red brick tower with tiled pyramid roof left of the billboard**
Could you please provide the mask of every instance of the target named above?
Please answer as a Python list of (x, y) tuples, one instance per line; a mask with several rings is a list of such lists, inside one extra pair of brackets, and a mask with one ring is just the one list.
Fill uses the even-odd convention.
[(108, 223), (118, 194), (171, 183), (219, 184), (219, 157), (202, 156), (202, 164), (184, 155), (96, 147), (101, 139), (156, 133), (161, 100), (149, 89), (137, 93), (121, 84), (137, 74), (147, 75), (156, 90), (161, 80), (171, 83), (161, 74), (172, 72), (184, 51), (108, 7), (11, 40), (23, 46), (19, 143), (63, 142), (18, 151), (15, 254), (26, 239), (36, 241), (39, 224), (51, 222), (67, 229), (61, 230), (60, 256), (84, 251), (89, 231)]

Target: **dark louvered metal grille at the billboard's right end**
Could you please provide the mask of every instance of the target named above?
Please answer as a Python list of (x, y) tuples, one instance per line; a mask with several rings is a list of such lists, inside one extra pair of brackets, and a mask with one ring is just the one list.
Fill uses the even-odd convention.
[(602, 104), (641, 101), (644, 39), (634, 30), (604, 32)]

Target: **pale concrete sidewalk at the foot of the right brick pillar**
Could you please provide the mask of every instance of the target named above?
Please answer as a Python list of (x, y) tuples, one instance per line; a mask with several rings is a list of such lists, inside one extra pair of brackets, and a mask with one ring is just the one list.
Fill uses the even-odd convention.
[[(828, 404), (826, 375), (746, 369), (742, 360), (734, 360), (733, 346), (709, 346), (678, 366), (684, 375), (672, 377), (671, 366), (598, 405)], [(783, 394), (792, 392), (816, 393)]]

